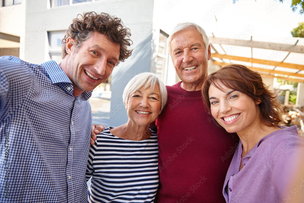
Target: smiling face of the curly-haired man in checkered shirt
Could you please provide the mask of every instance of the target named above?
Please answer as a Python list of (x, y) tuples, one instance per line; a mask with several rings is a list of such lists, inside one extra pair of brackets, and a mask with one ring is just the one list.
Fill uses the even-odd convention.
[(69, 58), (64, 72), (73, 83), (73, 93), (91, 92), (111, 75), (118, 63), (120, 45), (97, 32), (92, 32), (77, 50), (73, 43), (73, 39), (69, 38)]

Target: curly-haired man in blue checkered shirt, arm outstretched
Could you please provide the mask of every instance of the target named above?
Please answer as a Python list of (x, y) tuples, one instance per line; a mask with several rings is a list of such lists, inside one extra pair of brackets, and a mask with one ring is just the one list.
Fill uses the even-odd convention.
[(79, 202), (88, 98), (131, 55), (129, 37), (119, 18), (88, 12), (66, 31), (60, 64), (0, 57), (0, 202)]

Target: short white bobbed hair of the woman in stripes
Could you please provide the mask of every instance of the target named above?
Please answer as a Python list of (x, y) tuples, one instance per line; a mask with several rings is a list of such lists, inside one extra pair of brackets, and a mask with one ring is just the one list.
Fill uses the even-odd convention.
[(151, 91), (154, 90), (155, 85), (158, 85), (159, 91), (161, 92), (161, 110), (164, 109), (167, 103), (167, 89), (164, 83), (159, 79), (157, 75), (150, 72), (140, 73), (135, 75), (126, 85), (123, 90), (123, 102), (128, 105), (130, 95), (140, 89), (150, 88)]

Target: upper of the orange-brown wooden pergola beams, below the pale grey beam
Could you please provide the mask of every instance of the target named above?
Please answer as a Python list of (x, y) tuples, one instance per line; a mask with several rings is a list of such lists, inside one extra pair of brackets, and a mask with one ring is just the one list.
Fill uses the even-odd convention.
[(223, 55), (223, 54), (219, 54), (219, 53), (212, 53), (211, 57), (216, 57), (216, 58), (220, 58), (220, 59), (225, 58), (225, 59), (230, 59), (230, 60), (235, 60), (235, 61), (245, 61), (245, 62), (258, 63), (258, 64), (263, 64), (263, 65), (274, 65), (274, 66), (280, 66), (280, 67), (285, 67), (285, 68), (304, 70), (304, 65), (284, 63), (284, 62), (278, 62), (278, 61), (267, 61), (267, 60), (262, 60), (262, 59), (257, 59), (257, 58), (246, 58), (246, 57), (240, 57), (240, 56)]

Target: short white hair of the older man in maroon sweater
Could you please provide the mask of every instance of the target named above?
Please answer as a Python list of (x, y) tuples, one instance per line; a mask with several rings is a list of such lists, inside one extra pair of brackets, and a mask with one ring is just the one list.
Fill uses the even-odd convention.
[(192, 30), (192, 29), (196, 29), (202, 35), (205, 47), (207, 48), (209, 46), (209, 38), (205, 30), (201, 26), (191, 22), (179, 23), (173, 28), (172, 33), (168, 37), (168, 48), (170, 55), (171, 55), (171, 41), (174, 37), (174, 34), (182, 30)]

